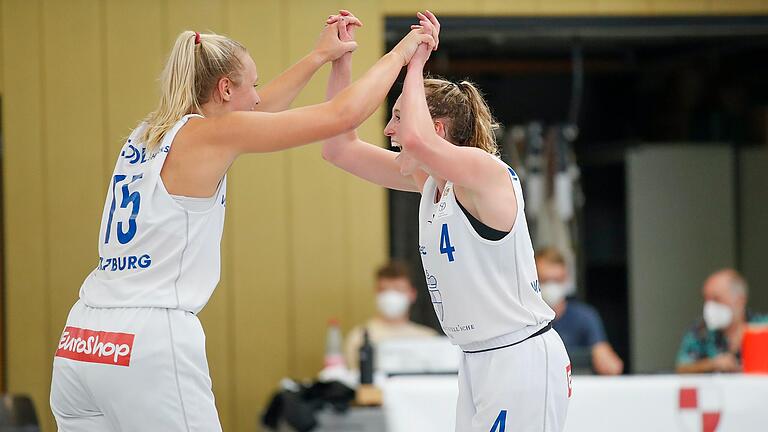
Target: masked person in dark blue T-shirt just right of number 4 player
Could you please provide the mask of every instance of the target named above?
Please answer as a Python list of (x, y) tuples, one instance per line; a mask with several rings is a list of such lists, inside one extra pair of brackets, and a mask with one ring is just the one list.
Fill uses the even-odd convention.
[(563, 255), (555, 248), (536, 253), (541, 297), (555, 311), (552, 327), (557, 330), (569, 352), (589, 350), (592, 370), (599, 375), (618, 375), (624, 362), (608, 343), (597, 311), (582, 302), (567, 299), (568, 268)]

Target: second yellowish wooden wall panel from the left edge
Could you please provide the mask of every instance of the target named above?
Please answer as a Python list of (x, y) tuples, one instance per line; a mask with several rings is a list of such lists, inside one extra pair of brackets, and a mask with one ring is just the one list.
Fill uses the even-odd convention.
[[(104, 193), (104, 79), (100, 3), (43, 3), (43, 143), (49, 340), (55, 342), (96, 266)], [(66, 35), (66, 37), (62, 37)], [(55, 343), (50, 344), (53, 355)]]

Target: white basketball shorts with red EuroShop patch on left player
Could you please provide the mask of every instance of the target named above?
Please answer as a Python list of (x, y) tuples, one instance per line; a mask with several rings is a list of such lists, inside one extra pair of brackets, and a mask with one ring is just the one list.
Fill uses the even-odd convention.
[(221, 431), (191, 312), (72, 307), (53, 361), (62, 432)]

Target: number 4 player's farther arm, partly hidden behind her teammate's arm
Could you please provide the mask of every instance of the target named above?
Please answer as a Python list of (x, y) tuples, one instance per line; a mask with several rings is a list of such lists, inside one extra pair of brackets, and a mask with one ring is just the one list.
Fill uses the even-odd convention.
[[(353, 31), (354, 28), (342, 25), (339, 27), (339, 37), (342, 41), (351, 40), (354, 37)], [(352, 53), (346, 53), (331, 66), (326, 99), (333, 99), (346, 88), (351, 77)], [(354, 129), (325, 140), (322, 154), (328, 162), (372, 183), (390, 189), (419, 191), (412, 176), (400, 174), (395, 161), (397, 153), (360, 140)]]

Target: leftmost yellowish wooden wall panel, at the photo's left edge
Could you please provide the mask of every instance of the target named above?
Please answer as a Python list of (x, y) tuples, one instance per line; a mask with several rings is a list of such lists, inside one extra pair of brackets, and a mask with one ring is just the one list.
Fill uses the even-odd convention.
[[(9, 392), (29, 394), (50, 428), (47, 412), (50, 359), (50, 292), (45, 226), (43, 144), (45, 91), (40, 1), (2, 2), (3, 195), (5, 198), (6, 377)], [(13, 38), (9, 37), (13, 35)], [(48, 429), (52, 430), (52, 429)]]

